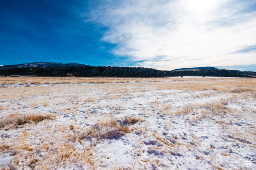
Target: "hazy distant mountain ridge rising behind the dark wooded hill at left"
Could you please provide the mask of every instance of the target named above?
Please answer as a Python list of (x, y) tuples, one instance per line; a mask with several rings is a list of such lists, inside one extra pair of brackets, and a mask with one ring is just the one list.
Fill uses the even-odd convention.
[(54, 62), (36, 62), (36, 63), (4, 65), (4, 66), (0, 66), (0, 70), (9, 70), (12, 68), (32, 68), (32, 67), (48, 68), (48, 67), (56, 67), (56, 66), (88, 66), (88, 65), (77, 64), (77, 63), (62, 64), (62, 63), (54, 63)]

